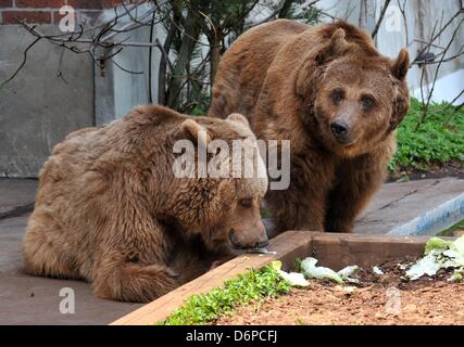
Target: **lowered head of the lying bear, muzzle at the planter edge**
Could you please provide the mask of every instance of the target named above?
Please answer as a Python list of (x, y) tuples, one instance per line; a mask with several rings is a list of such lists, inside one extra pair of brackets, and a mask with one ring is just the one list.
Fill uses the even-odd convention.
[(260, 213), (267, 176), (248, 120), (189, 117), (178, 139), (170, 209), (184, 232), (222, 253), (267, 246)]

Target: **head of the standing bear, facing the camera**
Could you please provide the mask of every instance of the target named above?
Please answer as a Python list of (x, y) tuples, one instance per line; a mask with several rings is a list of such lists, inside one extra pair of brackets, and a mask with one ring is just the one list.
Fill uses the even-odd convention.
[(308, 54), (297, 76), (304, 120), (338, 155), (366, 153), (388, 139), (407, 112), (407, 51), (385, 57), (366, 33), (346, 23), (322, 34), (325, 44)]

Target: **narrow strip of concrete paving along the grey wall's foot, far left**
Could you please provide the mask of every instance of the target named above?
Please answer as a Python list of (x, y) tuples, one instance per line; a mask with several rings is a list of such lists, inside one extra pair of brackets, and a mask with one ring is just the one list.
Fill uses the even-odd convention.
[(30, 211), (37, 185), (35, 179), (0, 178), (0, 219)]

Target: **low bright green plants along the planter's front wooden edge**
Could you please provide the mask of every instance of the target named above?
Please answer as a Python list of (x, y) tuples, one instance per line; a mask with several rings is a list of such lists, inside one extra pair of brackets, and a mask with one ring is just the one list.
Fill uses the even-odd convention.
[(251, 269), (236, 279), (225, 281), (223, 288), (190, 296), (180, 308), (159, 324), (206, 324), (234, 311), (238, 306), (256, 299), (276, 297), (288, 293), (289, 290), (290, 284), (284, 281), (271, 265), (261, 270)]

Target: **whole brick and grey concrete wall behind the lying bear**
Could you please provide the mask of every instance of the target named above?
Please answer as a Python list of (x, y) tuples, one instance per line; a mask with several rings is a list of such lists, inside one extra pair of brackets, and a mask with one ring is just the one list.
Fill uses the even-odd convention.
[[(61, 34), (57, 24), (62, 5), (72, 5), (76, 23), (88, 27), (110, 21), (117, 3), (121, 1), (0, 0), (0, 85), (17, 69), (35, 39), (17, 20), (38, 24), (46, 34)], [(130, 36), (148, 41), (149, 33), (148, 27), (140, 28)], [(155, 87), (160, 54), (153, 53)], [(101, 72), (88, 54), (75, 54), (46, 40), (27, 52), (17, 76), (0, 88), (0, 177), (37, 177), (52, 147), (67, 133), (108, 124), (149, 101), (148, 48), (126, 48), (115, 61), (143, 74), (127, 74), (111, 63)]]

